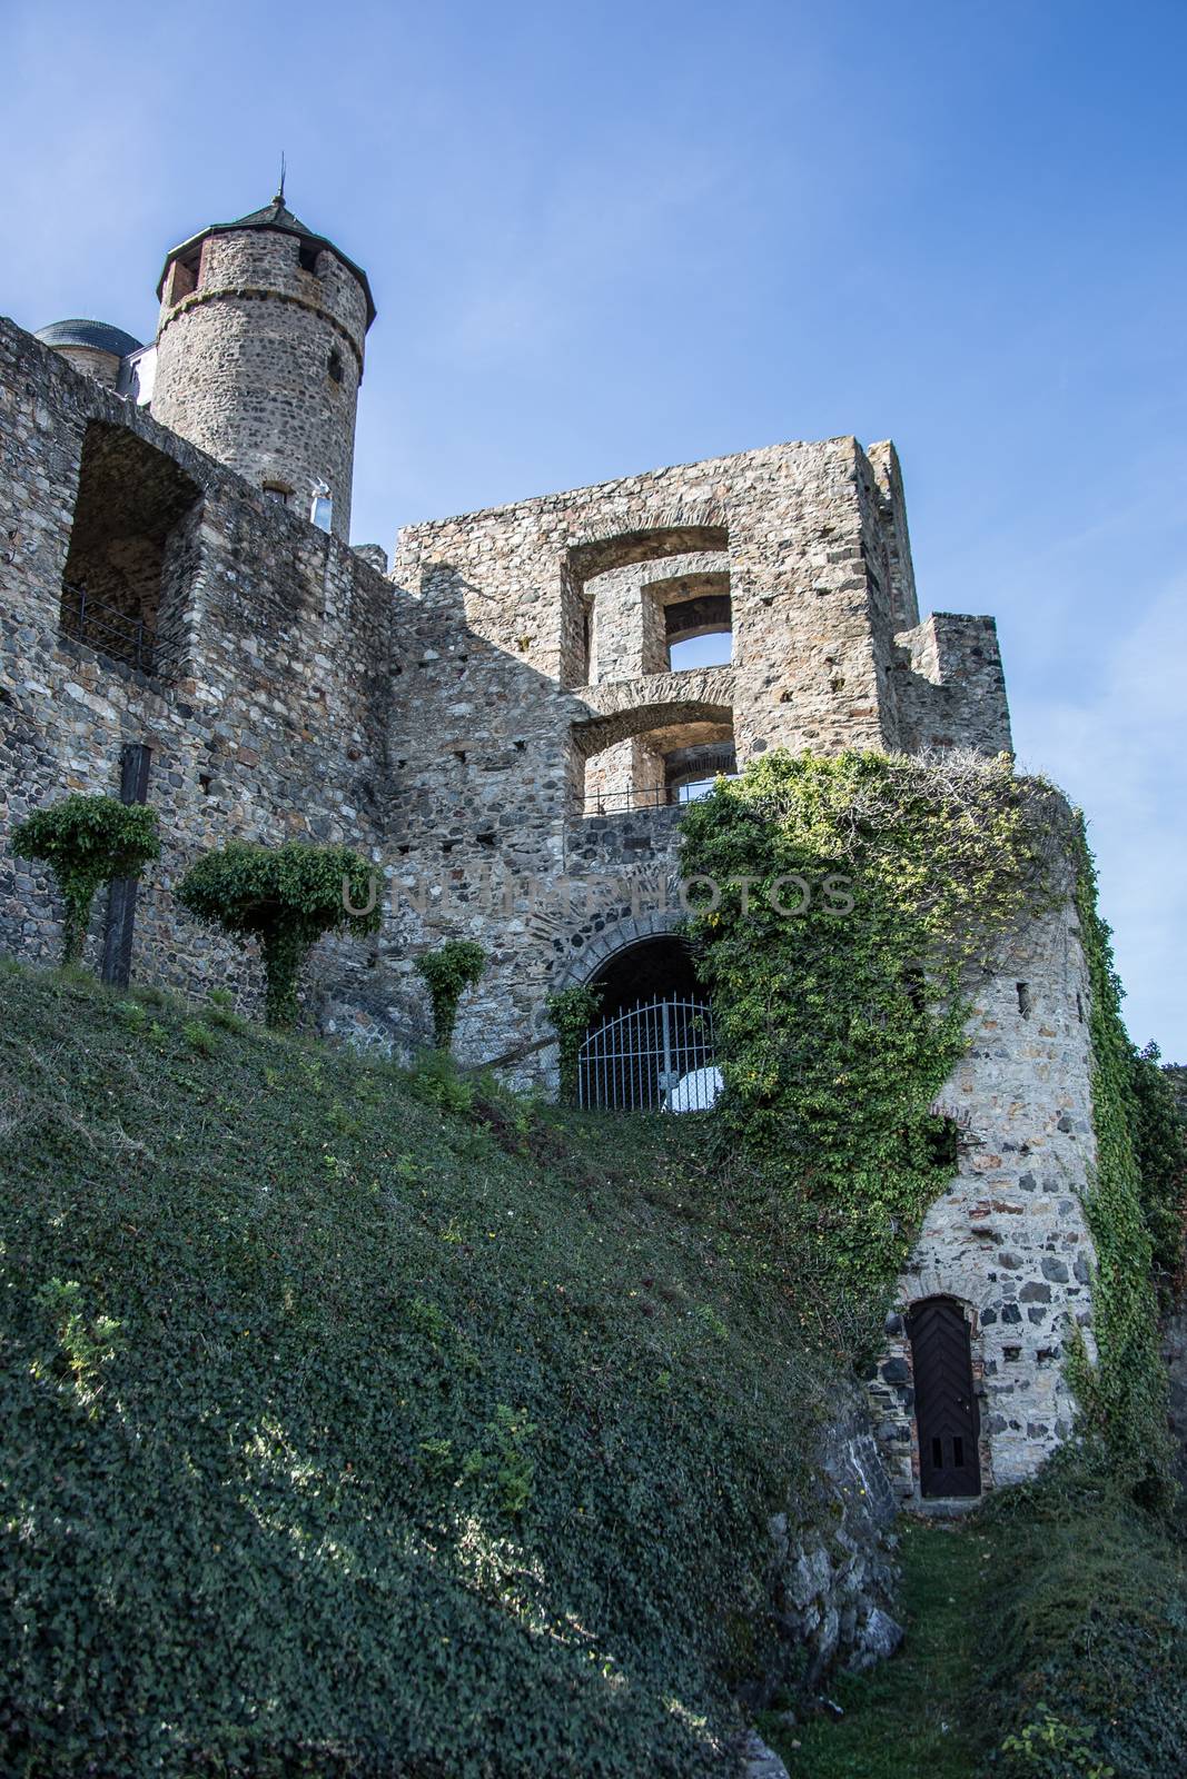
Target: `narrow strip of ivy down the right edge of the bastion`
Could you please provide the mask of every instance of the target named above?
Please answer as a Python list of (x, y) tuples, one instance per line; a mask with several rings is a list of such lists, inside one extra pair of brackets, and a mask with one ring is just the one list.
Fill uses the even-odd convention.
[[(1135, 1076), (1141, 1057), (1121, 1019), (1121, 984), (1112, 964), (1110, 930), (1096, 909), (1096, 870), (1082, 824), (1075, 849), (1075, 900), (1087, 962), (1093, 1042), (1096, 1169), (1084, 1194), (1084, 1213), (1096, 1247), (1093, 1332), (1098, 1359), (1091, 1364), (1080, 1343), (1070, 1359), (1070, 1382), (1080, 1402), (1080, 1427), (1089, 1448), (1098, 1450), (1105, 1468), (1139, 1500), (1162, 1507), (1173, 1496), (1173, 1484), (1151, 1224), (1166, 1254), (1171, 1217), (1167, 1178), (1157, 1178), (1151, 1165), (1150, 1192), (1143, 1183), (1143, 1128), (1148, 1137), (1153, 1135), (1148, 1114), (1143, 1126), (1143, 1096), (1151, 1087), (1148, 1076)], [(1135, 1078), (1141, 1082), (1137, 1092)], [(1148, 1155), (1153, 1162), (1150, 1144)], [(1182, 1176), (1175, 1190), (1182, 1194)]]

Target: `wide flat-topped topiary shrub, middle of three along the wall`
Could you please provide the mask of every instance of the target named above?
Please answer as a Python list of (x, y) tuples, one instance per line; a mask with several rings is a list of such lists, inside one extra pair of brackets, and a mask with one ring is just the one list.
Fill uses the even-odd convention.
[(370, 865), (351, 847), (231, 840), (190, 865), (176, 895), (199, 920), (260, 941), (267, 1023), (290, 1026), (297, 1019), (301, 966), (317, 941), (326, 932), (363, 936), (379, 929), (370, 877)]

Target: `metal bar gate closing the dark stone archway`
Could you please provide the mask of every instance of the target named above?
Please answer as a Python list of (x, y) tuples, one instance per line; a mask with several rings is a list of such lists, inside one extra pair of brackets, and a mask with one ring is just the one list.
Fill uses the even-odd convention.
[(708, 1002), (653, 1000), (605, 1019), (580, 1048), (577, 1098), (618, 1112), (708, 1112), (721, 1092)]

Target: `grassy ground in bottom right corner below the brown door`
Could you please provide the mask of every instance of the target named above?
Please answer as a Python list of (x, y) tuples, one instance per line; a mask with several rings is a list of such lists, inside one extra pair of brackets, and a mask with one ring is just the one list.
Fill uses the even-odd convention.
[(961, 1521), (902, 1533), (900, 1653), (828, 1711), (760, 1729), (792, 1779), (1178, 1779), (1187, 1558), (1062, 1455)]

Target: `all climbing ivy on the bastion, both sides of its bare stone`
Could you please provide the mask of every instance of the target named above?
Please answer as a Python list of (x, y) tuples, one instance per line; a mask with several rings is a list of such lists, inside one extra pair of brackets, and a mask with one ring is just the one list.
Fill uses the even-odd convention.
[(956, 1169), (936, 1105), (968, 986), (1020, 920), (1075, 897), (1089, 971), (1093, 1334), (1070, 1382), (1087, 1453), (1166, 1505), (1157, 1279), (1183, 1265), (1183, 1146), (1157, 1055), (1121, 1021), (1078, 815), (1005, 756), (769, 754), (692, 804), (689, 920), (724, 1050), (724, 1142), (760, 1165), (785, 1240), (856, 1345)]

